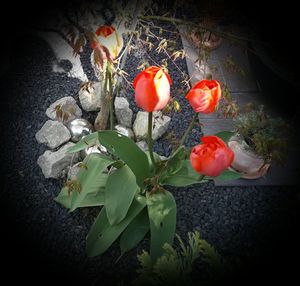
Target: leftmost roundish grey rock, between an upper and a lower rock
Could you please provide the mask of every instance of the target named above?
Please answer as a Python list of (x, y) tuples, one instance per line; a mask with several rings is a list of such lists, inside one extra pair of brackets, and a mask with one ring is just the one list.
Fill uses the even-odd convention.
[(48, 120), (40, 131), (35, 135), (39, 143), (45, 143), (51, 149), (54, 149), (71, 138), (69, 129), (61, 122)]

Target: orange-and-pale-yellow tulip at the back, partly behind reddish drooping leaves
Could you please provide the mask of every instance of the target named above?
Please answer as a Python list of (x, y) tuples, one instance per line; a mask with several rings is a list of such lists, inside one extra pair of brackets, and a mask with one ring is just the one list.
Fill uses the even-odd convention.
[[(96, 35), (101, 45), (105, 46), (111, 56), (115, 59), (123, 48), (123, 38), (119, 36), (118, 31), (113, 26), (100, 26)], [(97, 47), (97, 42), (92, 42), (92, 48)]]

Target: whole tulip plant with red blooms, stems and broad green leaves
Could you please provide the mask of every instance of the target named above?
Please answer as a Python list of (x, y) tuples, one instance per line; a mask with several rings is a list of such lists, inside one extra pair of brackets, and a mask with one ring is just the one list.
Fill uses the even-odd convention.
[[(113, 32), (106, 27), (98, 34), (105, 40)], [(118, 50), (106, 44), (103, 48), (100, 39), (95, 46), (98, 51), (110, 49), (107, 59), (115, 57)], [(107, 149), (105, 155), (88, 155), (80, 164), (77, 177), (68, 181), (56, 198), (71, 212), (80, 207), (103, 206), (86, 238), (90, 257), (104, 253), (118, 238), (123, 255), (150, 231), (150, 256), (155, 263), (164, 244), (172, 244), (176, 231), (176, 202), (166, 186), (183, 187), (210, 179), (239, 177), (227, 170), (234, 157), (226, 145), (228, 133), (202, 137), (191, 152), (184, 146), (198, 113), (211, 113), (217, 107), (221, 88), (215, 80), (202, 80), (187, 93), (195, 115), (177, 149), (163, 159), (153, 151), (152, 113), (168, 104), (171, 84), (170, 76), (157, 66), (146, 68), (133, 82), (135, 102), (149, 114), (149, 151), (144, 152), (134, 141), (113, 130), (94, 132), (69, 149), (70, 153), (94, 145)]]

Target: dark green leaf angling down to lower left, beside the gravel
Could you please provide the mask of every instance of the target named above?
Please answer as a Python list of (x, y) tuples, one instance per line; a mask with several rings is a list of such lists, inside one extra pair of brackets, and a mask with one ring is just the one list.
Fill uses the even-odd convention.
[(145, 197), (137, 196), (125, 219), (112, 226), (108, 222), (106, 208), (103, 207), (87, 235), (86, 252), (88, 256), (94, 257), (104, 253), (145, 206)]

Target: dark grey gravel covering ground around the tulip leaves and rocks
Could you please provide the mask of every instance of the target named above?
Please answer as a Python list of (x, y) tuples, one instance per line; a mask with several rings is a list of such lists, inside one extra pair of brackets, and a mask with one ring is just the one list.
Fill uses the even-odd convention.
[[(172, 25), (165, 29), (175, 30)], [(166, 34), (163, 34), (166, 36)], [(176, 41), (177, 49), (182, 45), (177, 34), (169, 34)], [(89, 259), (85, 255), (85, 236), (99, 209), (82, 209), (70, 214), (53, 201), (62, 186), (61, 181), (45, 179), (36, 161), (46, 147), (37, 144), (36, 132), (46, 122), (45, 111), (55, 100), (73, 96), (76, 100), (79, 80), (51, 71), (54, 55), (41, 39), (30, 36), (24, 40), (24, 49), (14, 60), (15, 65), (1, 77), (1, 233), (3, 257), (7, 269), (25, 269), (23, 279), (36, 280), (34, 273), (44, 273), (46, 279), (84, 281), (85, 285), (110, 285), (135, 275), (136, 254), (148, 247), (148, 240), (138, 249), (115, 264), (119, 256), (118, 244), (114, 244), (101, 257)], [(153, 42), (156, 45), (156, 42)], [(89, 60), (86, 48), (82, 59)], [(160, 62), (163, 53), (149, 53), (148, 58)], [(125, 71), (132, 82), (138, 73), (140, 56), (129, 56)], [(66, 64), (66, 63), (65, 63)], [(187, 72), (184, 60), (177, 66)], [(92, 75), (91, 66), (87, 75)], [(182, 75), (168, 61), (173, 80), (171, 92), (176, 94), (182, 111), (174, 114), (169, 132), (180, 138), (186, 130), (192, 110), (184, 99)], [(91, 78), (94, 80), (94, 78)], [(138, 111), (133, 101), (132, 88), (122, 93), (130, 102), (134, 116)], [(84, 118), (91, 120), (95, 113)], [(187, 145), (199, 142), (201, 130), (193, 129)], [(164, 136), (154, 144), (157, 153), (167, 156), (171, 143)], [(206, 183), (189, 188), (169, 188), (177, 202), (177, 231), (184, 238), (188, 231), (198, 230), (225, 257), (243, 257), (247, 253), (261, 255), (272, 253), (277, 239), (284, 242), (292, 239), (290, 227), (297, 212), (295, 187), (215, 187)], [(276, 240), (275, 240), (276, 238)], [(292, 246), (284, 245), (289, 249)], [(269, 249), (269, 252), (266, 252)], [(11, 262), (12, 258), (12, 262)], [(30, 258), (30, 259), (29, 259)], [(29, 263), (29, 261), (32, 261)], [(279, 263), (284, 261), (279, 260)], [(31, 272), (33, 273), (31, 275)], [(11, 278), (12, 280), (16, 278)], [(24, 281), (25, 281), (24, 280)], [(55, 280), (58, 281), (58, 280)], [(101, 284), (102, 285), (102, 284)]]

